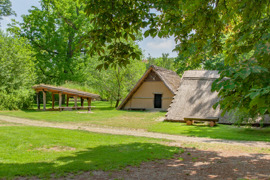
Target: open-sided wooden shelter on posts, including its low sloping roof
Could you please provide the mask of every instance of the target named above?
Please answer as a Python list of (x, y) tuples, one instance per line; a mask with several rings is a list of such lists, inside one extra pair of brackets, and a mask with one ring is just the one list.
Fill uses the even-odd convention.
[[(40, 96), (39, 92), (42, 92), (43, 94), (43, 110), (46, 110), (46, 93), (50, 92), (52, 93), (52, 109), (48, 110), (64, 110), (64, 109), (88, 109), (88, 111), (91, 111), (91, 101), (94, 99), (100, 99), (100, 96), (97, 94), (92, 94), (84, 91), (78, 91), (75, 89), (68, 89), (63, 87), (56, 87), (51, 85), (35, 85), (32, 87), (37, 94), (37, 106), (38, 109), (40, 109)], [(59, 108), (55, 108), (55, 94), (59, 95)], [(62, 106), (63, 96), (66, 96), (66, 107)], [(73, 97), (74, 98), (74, 107), (68, 107), (69, 106), (69, 99)], [(81, 99), (81, 106), (78, 107), (78, 98)], [(87, 100), (88, 106), (84, 107), (84, 100)]]

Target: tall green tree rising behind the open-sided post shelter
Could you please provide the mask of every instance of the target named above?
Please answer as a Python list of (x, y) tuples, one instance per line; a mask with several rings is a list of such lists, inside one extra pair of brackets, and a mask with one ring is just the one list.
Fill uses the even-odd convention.
[[(22, 23), (14, 23), (9, 31), (25, 37), (34, 49), (37, 82), (62, 84), (85, 80), (89, 55), (82, 48), (92, 28), (85, 6), (79, 0), (42, 0), (41, 8), (33, 7)], [(88, 44), (91, 46), (91, 43)]]

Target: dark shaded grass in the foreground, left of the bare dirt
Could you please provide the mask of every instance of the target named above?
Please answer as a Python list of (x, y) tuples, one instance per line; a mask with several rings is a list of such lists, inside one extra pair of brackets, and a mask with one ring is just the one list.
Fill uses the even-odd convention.
[(121, 169), (128, 165), (140, 165), (145, 161), (170, 158), (178, 151), (177, 147), (155, 143), (98, 146), (59, 157), (54, 162), (0, 163), (0, 177), (46, 177), (67, 172)]

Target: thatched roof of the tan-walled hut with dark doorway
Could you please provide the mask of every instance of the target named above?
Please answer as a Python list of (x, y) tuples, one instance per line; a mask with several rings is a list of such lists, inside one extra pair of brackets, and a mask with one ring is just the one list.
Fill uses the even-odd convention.
[(179, 87), (181, 78), (179, 75), (171, 70), (158, 67), (155, 65), (151, 65), (148, 70), (143, 74), (141, 79), (137, 82), (137, 84), (133, 87), (133, 89), (129, 92), (127, 97), (122, 101), (122, 103), (117, 107), (117, 109), (122, 109), (125, 104), (128, 102), (128, 100), (132, 97), (132, 95), (137, 91), (137, 89), (141, 86), (141, 84), (144, 82), (144, 80), (147, 78), (147, 76), (154, 72), (158, 75), (158, 77), (163, 81), (165, 86), (172, 92), (172, 94), (175, 94), (177, 91), (177, 88)]

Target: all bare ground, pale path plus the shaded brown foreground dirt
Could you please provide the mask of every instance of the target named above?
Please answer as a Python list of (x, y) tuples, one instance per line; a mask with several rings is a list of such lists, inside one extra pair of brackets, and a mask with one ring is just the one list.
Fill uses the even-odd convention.
[[(60, 123), (38, 122), (27, 119), (0, 116), (9, 123), (42, 127), (82, 129)], [(83, 130), (99, 133), (124, 134), (169, 139), (167, 145), (178, 146), (184, 151), (172, 159), (144, 162), (139, 167), (125, 167), (117, 171), (89, 171), (66, 174), (50, 179), (266, 179), (270, 180), (270, 144), (267, 142), (227, 141), (208, 138), (194, 138), (160, 133), (139, 132), (124, 129), (85, 127)], [(18, 177), (16, 179), (38, 179)]]

